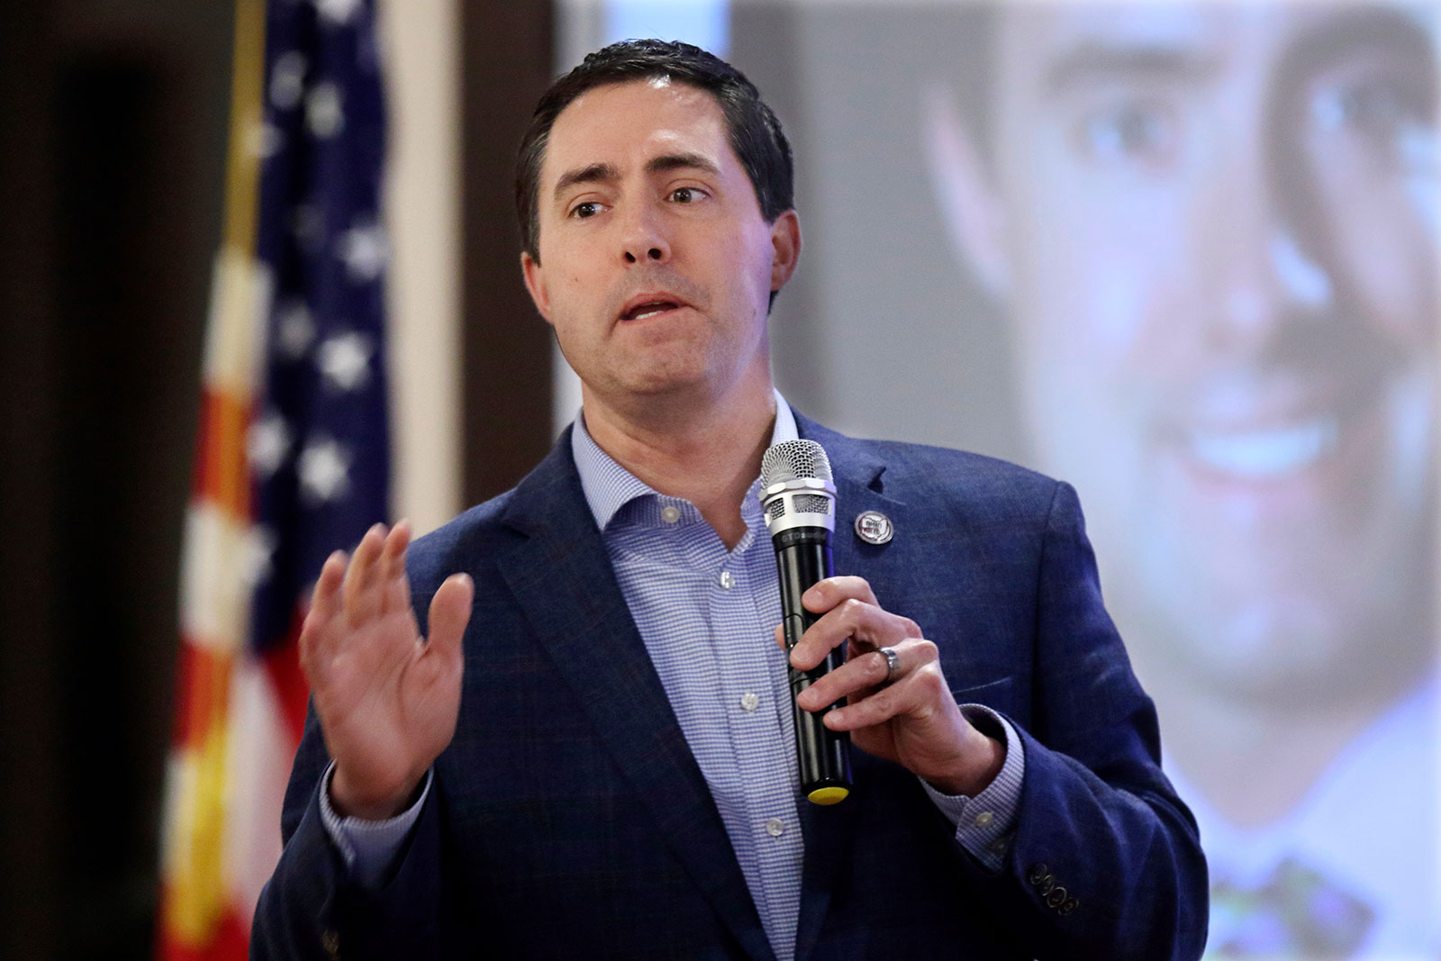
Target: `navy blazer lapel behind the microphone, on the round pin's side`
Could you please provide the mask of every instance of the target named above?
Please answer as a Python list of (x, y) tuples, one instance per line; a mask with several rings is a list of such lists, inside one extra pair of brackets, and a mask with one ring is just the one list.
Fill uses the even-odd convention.
[[(899, 510), (899, 506), (882, 493), (885, 462), (876, 458), (869, 447), (829, 431), (800, 414), (795, 415), (795, 425), (801, 437), (817, 441), (826, 448), (836, 477), (836, 530), (830, 540), (836, 573), (867, 576), (867, 560), (883, 552), (885, 546), (860, 542), (855, 530), (856, 516), (866, 510), (878, 510), (895, 517)], [(865, 790), (863, 782), (855, 787), (856, 792)], [(826, 911), (830, 908), (836, 879), (846, 875), (842, 866), (856, 833), (857, 808), (859, 804), (846, 801), (833, 807), (801, 803), (806, 867), (801, 875), (801, 913), (795, 932), (797, 958), (808, 957), (814, 948), (826, 921)]]

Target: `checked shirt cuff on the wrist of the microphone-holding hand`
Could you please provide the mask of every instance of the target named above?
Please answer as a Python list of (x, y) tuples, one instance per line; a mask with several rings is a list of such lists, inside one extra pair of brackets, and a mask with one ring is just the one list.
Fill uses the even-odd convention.
[(961, 705), (961, 713), (981, 733), (1006, 736), (1006, 761), (996, 779), (976, 797), (942, 794), (921, 779), (931, 803), (955, 826), (955, 843), (993, 872), (999, 872), (1014, 833), (1020, 785), (1026, 775), (1026, 748), (1010, 722), (984, 705)]

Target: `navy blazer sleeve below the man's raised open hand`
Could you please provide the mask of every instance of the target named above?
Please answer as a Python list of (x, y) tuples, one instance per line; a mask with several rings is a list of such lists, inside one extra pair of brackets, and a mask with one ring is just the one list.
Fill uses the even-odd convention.
[(291, 769), (281, 817), (285, 847), (251, 925), (252, 960), (441, 958), (441, 800), (438, 784), (376, 892), (347, 877), (320, 818), (327, 758), (314, 712)]

